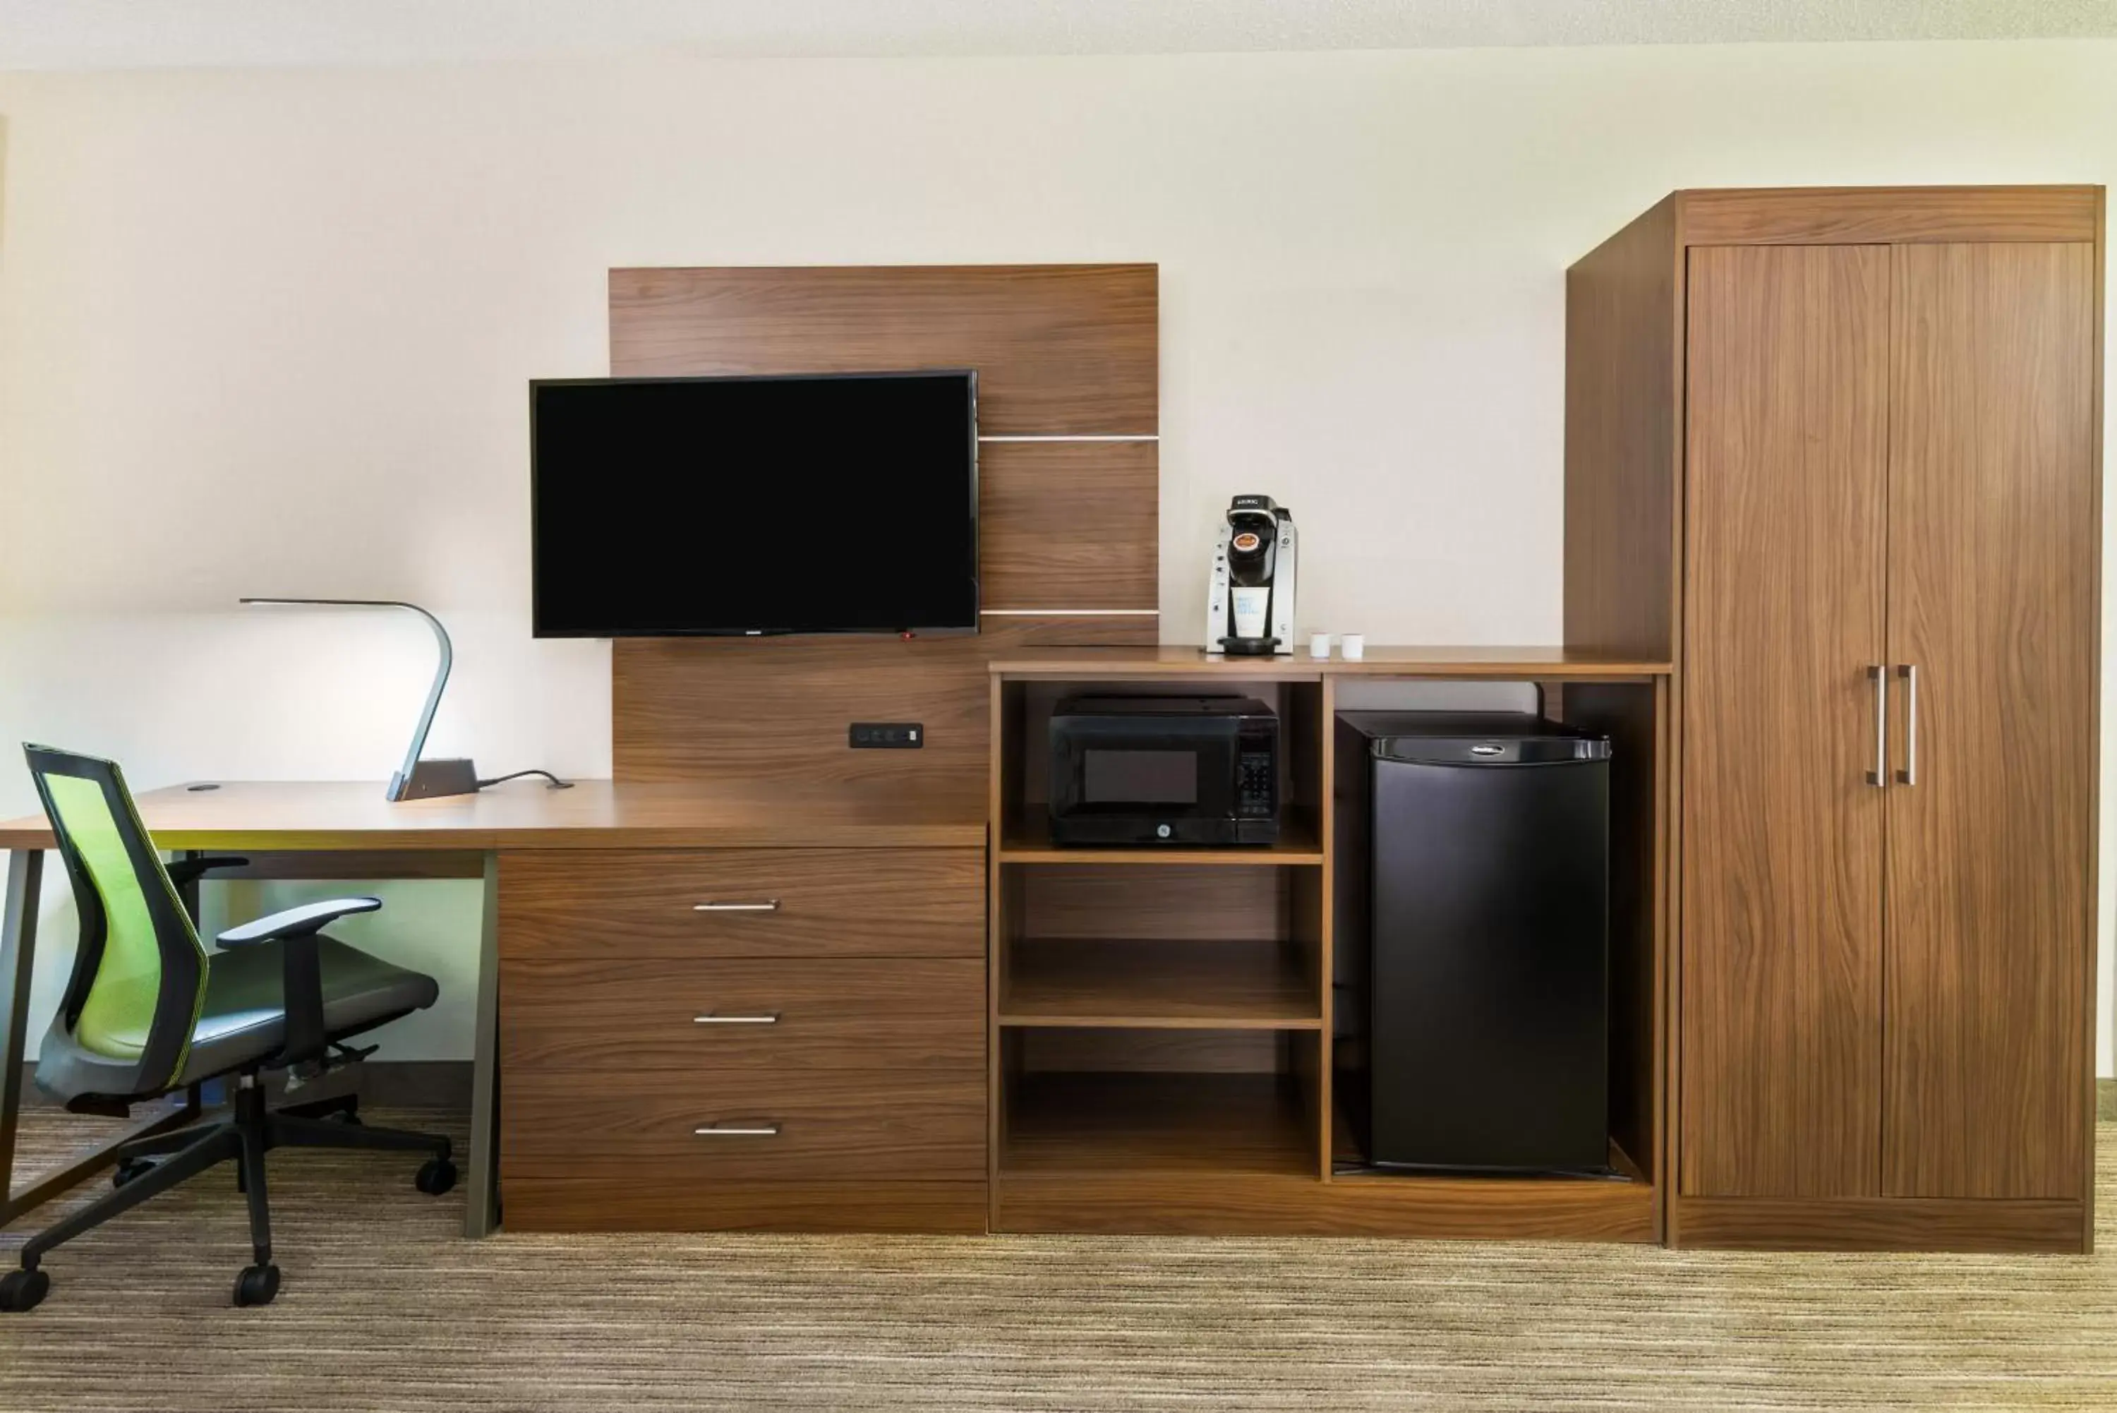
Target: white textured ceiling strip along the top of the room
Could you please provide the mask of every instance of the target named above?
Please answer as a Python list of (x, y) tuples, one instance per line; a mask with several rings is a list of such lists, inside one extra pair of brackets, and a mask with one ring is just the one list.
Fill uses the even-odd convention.
[(2117, 0), (0, 0), (0, 68), (2117, 36)]

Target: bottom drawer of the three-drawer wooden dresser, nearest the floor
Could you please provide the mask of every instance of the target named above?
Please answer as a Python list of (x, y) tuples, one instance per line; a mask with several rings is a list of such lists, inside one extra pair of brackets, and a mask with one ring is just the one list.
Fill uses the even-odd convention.
[(980, 1182), (984, 1072), (510, 1072), (500, 1163), (502, 1182)]

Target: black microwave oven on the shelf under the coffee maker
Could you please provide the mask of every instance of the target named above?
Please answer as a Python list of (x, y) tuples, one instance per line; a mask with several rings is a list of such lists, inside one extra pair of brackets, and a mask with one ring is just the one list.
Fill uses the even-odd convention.
[(1277, 843), (1279, 716), (1255, 697), (1067, 697), (1052, 843)]

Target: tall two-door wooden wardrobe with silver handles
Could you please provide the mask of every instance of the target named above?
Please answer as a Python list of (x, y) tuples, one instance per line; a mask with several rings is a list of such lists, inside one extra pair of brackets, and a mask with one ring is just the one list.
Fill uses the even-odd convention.
[(2092, 1241), (2100, 335), (2100, 186), (1569, 273), (1567, 642), (1677, 665), (1672, 1244)]

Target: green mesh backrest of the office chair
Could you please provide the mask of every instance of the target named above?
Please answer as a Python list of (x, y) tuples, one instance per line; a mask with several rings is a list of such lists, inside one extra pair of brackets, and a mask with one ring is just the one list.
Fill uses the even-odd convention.
[(23, 746), (80, 913), (80, 947), (38, 1057), (61, 1097), (144, 1097), (182, 1074), (205, 947), (114, 761)]

